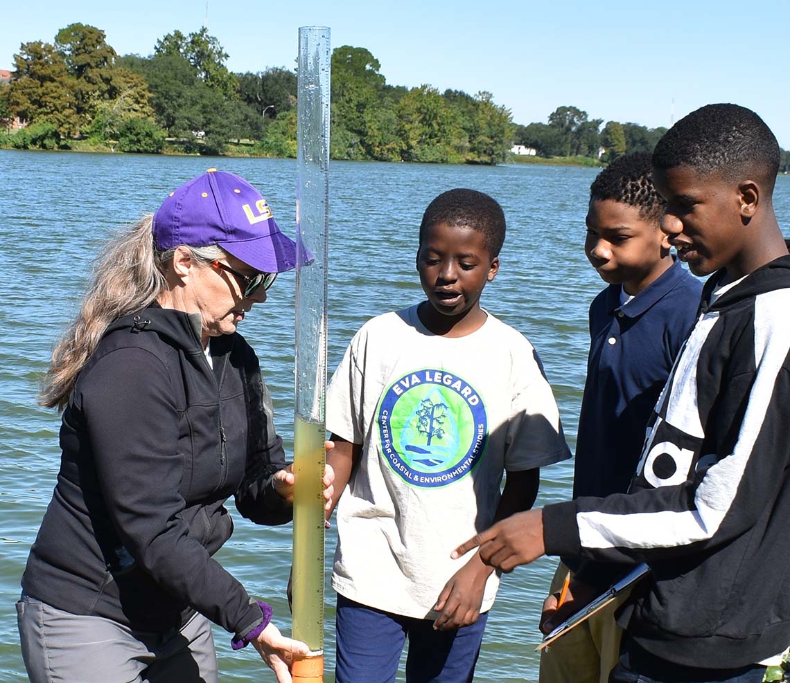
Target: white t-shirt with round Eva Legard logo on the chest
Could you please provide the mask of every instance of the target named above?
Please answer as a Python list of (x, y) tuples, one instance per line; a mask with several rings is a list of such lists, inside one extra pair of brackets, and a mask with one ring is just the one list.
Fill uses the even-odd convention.
[(329, 383), (326, 426), (363, 445), (337, 507), (333, 588), (415, 618), (436, 614), (471, 557), (450, 552), (491, 525), (503, 471), (570, 457), (532, 345), (490, 313), (461, 338), (431, 334), (416, 306), (368, 321)]

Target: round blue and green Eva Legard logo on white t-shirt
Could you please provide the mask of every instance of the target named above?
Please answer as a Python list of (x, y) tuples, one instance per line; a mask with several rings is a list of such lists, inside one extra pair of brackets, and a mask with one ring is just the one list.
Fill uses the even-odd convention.
[(409, 372), (376, 410), (379, 448), (389, 468), (416, 487), (446, 486), (468, 475), (485, 452), (488, 420), (475, 388), (444, 370)]

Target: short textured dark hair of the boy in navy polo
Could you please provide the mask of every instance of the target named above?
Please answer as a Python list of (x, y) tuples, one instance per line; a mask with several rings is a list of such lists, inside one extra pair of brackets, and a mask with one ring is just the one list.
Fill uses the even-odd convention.
[(636, 207), (641, 218), (660, 222), (667, 203), (653, 185), (653, 157), (634, 152), (611, 162), (590, 185), (590, 200), (613, 200)]

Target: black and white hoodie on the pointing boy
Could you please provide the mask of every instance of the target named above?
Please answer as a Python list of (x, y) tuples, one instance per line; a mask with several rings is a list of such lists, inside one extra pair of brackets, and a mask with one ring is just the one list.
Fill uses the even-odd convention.
[(644, 560), (620, 621), (683, 666), (733, 668), (790, 644), (790, 256), (715, 298), (714, 274), (627, 494), (544, 509), (547, 554)]

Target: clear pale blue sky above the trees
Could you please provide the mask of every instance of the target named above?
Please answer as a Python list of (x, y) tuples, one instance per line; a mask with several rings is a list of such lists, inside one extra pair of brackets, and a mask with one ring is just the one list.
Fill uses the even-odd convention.
[[(208, 21), (207, 21), (208, 16)], [(150, 54), (157, 38), (206, 24), (231, 71), (292, 69), (297, 30), (332, 29), (333, 47), (367, 47), (387, 83), (488, 90), (513, 121), (546, 121), (557, 106), (590, 118), (671, 124), (698, 106), (757, 111), (790, 148), (788, 2), (133, 2), (6, 3), (0, 69), (22, 42), (51, 42), (81, 22), (119, 54)]]

